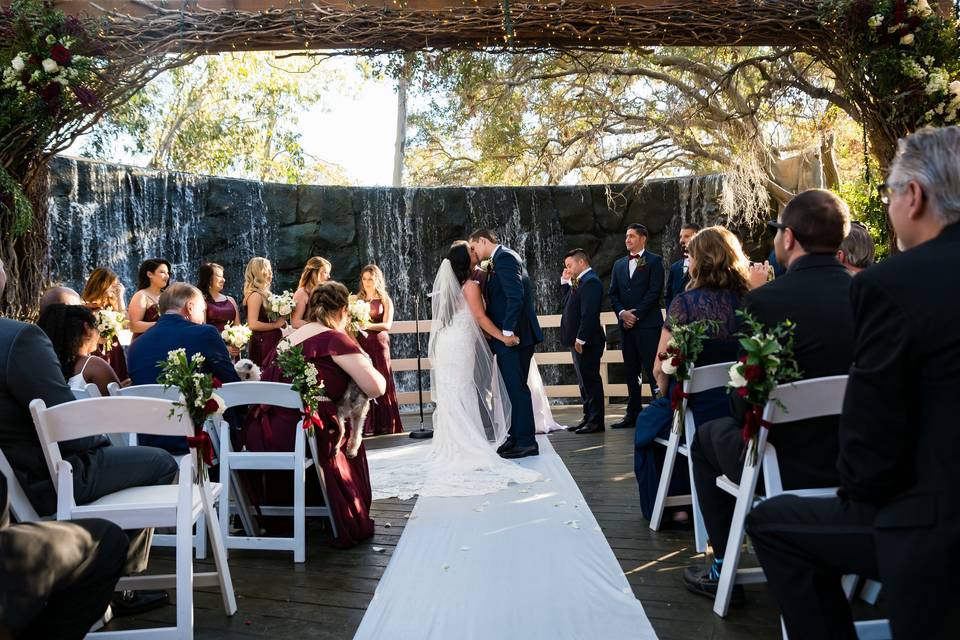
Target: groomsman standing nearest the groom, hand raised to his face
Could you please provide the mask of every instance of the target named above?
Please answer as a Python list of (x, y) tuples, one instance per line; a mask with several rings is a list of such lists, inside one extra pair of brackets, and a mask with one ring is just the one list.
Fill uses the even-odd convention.
[(600, 325), (600, 302), (603, 283), (590, 268), (590, 259), (583, 249), (574, 249), (563, 260), (563, 316), (560, 319), (560, 344), (573, 353), (573, 367), (580, 385), (583, 420), (571, 431), (596, 433), (603, 431), (603, 380), (600, 379), (600, 358), (606, 336)]

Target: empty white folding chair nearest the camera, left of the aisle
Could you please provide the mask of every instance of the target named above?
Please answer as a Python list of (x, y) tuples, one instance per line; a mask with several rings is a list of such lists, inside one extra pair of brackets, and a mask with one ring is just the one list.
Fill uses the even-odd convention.
[[(96, 634), (95, 637), (192, 638), (193, 589), (219, 586), (224, 611), (236, 613), (237, 603), (227, 565), (227, 554), (220, 537), (214, 500), (220, 485), (196, 482), (195, 456), (180, 460), (180, 477), (176, 484), (131, 487), (103, 496), (86, 505), (78, 505), (73, 497), (73, 467), (60, 457), (59, 442), (115, 430), (136, 422), (141, 433), (152, 435), (192, 435), (188, 421), (168, 417), (171, 403), (152, 398), (90, 398), (47, 408), (43, 400), (30, 403), (30, 413), (37, 427), (50, 475), (57, 487), (57, 519), (102, 518), (123, 529), (176, 527), (176, 574), (134, 576), (118, 583), (119, 589), (177, 590), (177, 625), (137, 631)], [(216, 571), (194, 573), (191, 532), (200, 516), (210, 529)]]

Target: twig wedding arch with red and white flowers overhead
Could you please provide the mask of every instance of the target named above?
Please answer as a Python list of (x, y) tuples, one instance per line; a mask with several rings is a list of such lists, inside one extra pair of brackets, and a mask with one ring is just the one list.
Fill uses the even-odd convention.
[(823, 64), (832, 90), (800, 73), (795, 88), (860, 122), (886, 166), (899, 137), (958, 117), (955, 11), (953, 0), (12, 0), (0, 16), (0, 259), (15, 285), (0, 308), (28, 311), (49, 277), (49, 159), (200, 55), (766, 45), (743, 64), (784, 51)]

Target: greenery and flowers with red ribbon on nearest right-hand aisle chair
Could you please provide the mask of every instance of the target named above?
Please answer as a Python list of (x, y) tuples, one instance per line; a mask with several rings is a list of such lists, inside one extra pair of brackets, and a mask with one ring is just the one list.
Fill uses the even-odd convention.
[[(748, 443), (748, 458), (751, 465), (757, 462), (757, 437), (761, 427), (769, 427), (763, 419), (763, 409), (770, 394), (778, 385), (799, 380), (802, 377), (793, 355), (793, 333), (796, 325), (785, 320), (775, 327), (767, 327), (745, 311), (738, 311), (744, 324), (740, 333), (740, 346), (744, 355), (730, 367), (730, 382), (727, 389), (743, 398), (749, 405), (743, 423), (743, 441)], [(779, 400), (777, 405), (786, 411)]]

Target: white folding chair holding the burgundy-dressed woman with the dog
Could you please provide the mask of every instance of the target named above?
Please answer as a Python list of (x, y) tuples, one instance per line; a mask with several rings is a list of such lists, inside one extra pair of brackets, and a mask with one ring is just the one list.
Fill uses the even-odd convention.
[[(223, 398), (228, 408), (244, 405), (269, 405), (285, 407), (287, 409), (303, 410), (300, 394), (294, 391), (289, 384), (279, 382), (230, 382), (217, 393)], [(226, 490), (220, 501), (220, 526), (223, 528), (223, 539), (227, 549), (264, 549), (272, 551), (293, 551), (294, 562), (306, 560), (306, 517), (321, 516), (329, 519), (333, 535), (337, 535), (337, 524), (330, 511), (330, 499), (327, 496), (326, 480), (323, 469), (317, 460), (317, 444), (313, 438), (309, 439), (310, 453), (306, 454), (307, 438), (302, 428), (302, 420), (294, 427), (293, 451), (233, 451), (230, 435), (223, 434), (220, 438), (220, 478), (231, 478), (225, 483)], [(323, 492), (324, 507), (306, 507), (306, 472), (310, 467), (317, 471), (320, 480), (320, 489)], [(246, 536), (229, 535), (230, 495), (233, 491), (237, 509), (243, 514), (248, 508), (247, 497), (239, 482), (234, 482), (236, 471), (290, 471), (293, 474), (293, 506), (264, 505), (260, 513), (265, 516), (293, 516), (292, 538), (268, 538), (251, 535), (258, 531), (248, 530)]]

